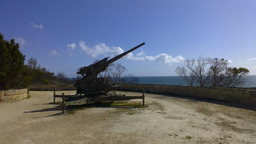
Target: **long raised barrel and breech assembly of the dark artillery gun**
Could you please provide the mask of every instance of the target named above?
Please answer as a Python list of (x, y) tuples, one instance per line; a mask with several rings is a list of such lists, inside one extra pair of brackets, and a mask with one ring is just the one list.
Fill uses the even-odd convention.
[[(101, 73), (102, 71), (105, 71), (106, 68), (108, 67), (109, 64), (115, 62), (116, 60), (124, 57), (125, 55), (127, 55), (128, 53), (132, 52), (133, 50), (143, 46), (145, 43), (139, 44), (138, 46), (124, 52), (121, 53), (119, 55), (117, 55), (116, 57), (107, 60), (109, 57), (104, 58), (102, 60), (100, 60), (99, 62), (95, 63), (95, 64), (91, 64), (89, 66), (84, 66), (81, 67), (80, 69), (78, 69), (79, 71), (76, 74), (80, 74), (82, 75), (82, 81), (94, 81), (95, 79), (97, 79), (97, 75), (99, 73)], [(84, 75), (86, 74), (86, 76)]]

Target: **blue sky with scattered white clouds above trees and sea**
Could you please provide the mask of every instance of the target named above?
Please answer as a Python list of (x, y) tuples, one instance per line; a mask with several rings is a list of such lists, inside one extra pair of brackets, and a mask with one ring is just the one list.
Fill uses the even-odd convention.
[(202, 55), (256, 75), (255, 0), (2, 0), (0, 13), (1, 34), (20, 44), (26, 62), (69, 78), (143, 42), (116, 61), (126, 74), (176, 76)]

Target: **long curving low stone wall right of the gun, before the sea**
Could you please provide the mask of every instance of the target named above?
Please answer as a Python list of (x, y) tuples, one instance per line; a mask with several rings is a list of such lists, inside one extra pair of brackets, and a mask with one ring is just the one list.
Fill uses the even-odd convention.
[(117, 90), (156, 92), (180, 96), (191, 96), (211, 100), (240, 103), (256, 106), (256, 91), (226, 89), (217, 87), (157, 85), (157, 84), (118, 84)]

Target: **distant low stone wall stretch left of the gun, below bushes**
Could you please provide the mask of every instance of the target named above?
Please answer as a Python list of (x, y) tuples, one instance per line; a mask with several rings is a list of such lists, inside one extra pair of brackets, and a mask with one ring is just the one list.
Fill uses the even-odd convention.
[(29, 85), (27, 87), (30, 91), (71, 91), (76, 90), (73, 84), (56, 84), (56, 85)]

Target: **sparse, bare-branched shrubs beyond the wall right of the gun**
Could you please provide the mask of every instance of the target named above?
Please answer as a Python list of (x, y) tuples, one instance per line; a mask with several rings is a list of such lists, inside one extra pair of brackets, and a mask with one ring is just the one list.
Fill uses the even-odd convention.
[(196, 60), (185, 60), (183, 64), (175, 72), (189, 86), (236, 87), (244, 83), (244, 76), (249, 74), (246, 68), (230, 67), (224, 58), (199, 56)]

